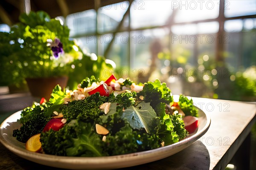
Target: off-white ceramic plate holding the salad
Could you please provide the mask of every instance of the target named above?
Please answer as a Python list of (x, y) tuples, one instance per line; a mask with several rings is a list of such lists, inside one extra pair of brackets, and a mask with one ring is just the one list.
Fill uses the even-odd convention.
[(25, 149), (24, 143), (18, 142), (15, 137), (12, 136), (12, 131), (20, 128), (20, 123), (17, 119), (20, 119), (21, 111), (12, 114), (1, 124), (0, 142), (7, 149), (24, 159), (51, 167), (68, 169), (113, 169), (131, 167), (171, 156), (185, 149), (203, 136), (204, 133), (207, 132), (211, 121), (208, 114), (200, 109), (198, 110), (199, 126), (195, 133), (175, 144), (137, 153), (102, 157), (68, 157), (30, 152)]

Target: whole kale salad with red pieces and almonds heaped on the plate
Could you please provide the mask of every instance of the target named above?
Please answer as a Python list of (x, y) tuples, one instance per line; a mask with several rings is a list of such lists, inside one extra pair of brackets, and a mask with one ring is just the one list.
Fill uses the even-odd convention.
[(198, 109), (184, 95), (174, 102), (156, 79), (106, 81), (86, 77), (76, 90), (56, 85), (51, 98), (25, 108), (13, 136), (26, 150), (57, 156), (113, 156), (183, 140), (198, 128)]

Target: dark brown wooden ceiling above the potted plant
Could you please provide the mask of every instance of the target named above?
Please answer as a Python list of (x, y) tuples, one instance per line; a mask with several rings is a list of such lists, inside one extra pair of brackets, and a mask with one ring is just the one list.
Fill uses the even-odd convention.
[[(20, 13), (24, 12), (25, 1), (28, 0), (0, 0), (0, 24), (13, 25), (19, 22), (18, 18)], [(46, 11), (53, 18), (123, 1), (125, 0), (30, 0), (30, 9)]]

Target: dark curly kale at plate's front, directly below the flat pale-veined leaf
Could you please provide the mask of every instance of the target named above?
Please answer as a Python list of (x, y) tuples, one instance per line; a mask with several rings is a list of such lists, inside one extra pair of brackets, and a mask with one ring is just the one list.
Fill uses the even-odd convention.
[(103, 144), (103, 150), (108, 155), (134, 153), (160, 147), (157, 135), (133, 130), (128, 124), (122, 127), (116, 135), (108, 135)]

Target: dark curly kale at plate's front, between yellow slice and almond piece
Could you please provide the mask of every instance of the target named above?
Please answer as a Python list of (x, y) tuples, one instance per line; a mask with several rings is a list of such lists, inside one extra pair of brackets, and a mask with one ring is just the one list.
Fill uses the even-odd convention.
[(73, 120), (59, 131), (41, 134), (45, 153), (60, 156), (104, 156), (102, 139), (91, 123)]

